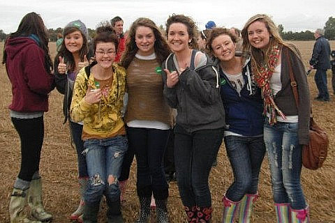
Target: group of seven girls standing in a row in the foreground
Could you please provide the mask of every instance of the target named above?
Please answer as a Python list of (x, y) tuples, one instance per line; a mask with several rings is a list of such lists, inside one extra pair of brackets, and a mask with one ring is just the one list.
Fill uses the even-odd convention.
[[(3, 54), (13, 86), (10, 117), (22, 155), (10, 221), (52, 219), (43, 209), (38, 166), (43, 113), (56, 86), (64, 93), (64, 116), (77, 150), (81, 200), (72, 220), (97, 222), (104, 195), (107, 222), (124, 222), (119, 177), (124, 155), (131, 150), (137, 160), (140, 201), (136, 222), (149, 222), (151, 196), (157, 222), (169, 222), (162, 161), (173, 108), (177, 185), (188, 222), (211, 222), (209, 172), (223, 139), (234, 183), (223, 197), (222, 222), (250, 222), (265, 151), (277, 221), (309, 222), (300, 183), (301, 145), (308, 142), (310, 112), (301, 56), (282, 40), (267, 15), (251, 17), (241, 33), (242, 56), (235, 56), (236, 37), (223, 28), (206, 36), (204, 53), (198, 50), (198, 31), (190, 17), (170, 16), (166, 38), (153, 21), (139, 18), (130, 28), (121, 63), (115, 63), (119, 40), (113, 30), (105, 27), (97, 33), (90, 55), (86, 26), (76, 20), (64, 28), (52, 74), (43, 21), (36, 13), (23, 17)], [(290, 72), (297, 82), (299, 105)], [(22, 211), (27, 201), (36, 221)]]

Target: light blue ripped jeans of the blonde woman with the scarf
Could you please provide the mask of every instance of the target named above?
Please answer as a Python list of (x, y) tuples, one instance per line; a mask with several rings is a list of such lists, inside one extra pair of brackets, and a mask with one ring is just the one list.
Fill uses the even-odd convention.
[(306, 208), (301, 188), (301, 145), (298, 123), (265, 121), (264, 140), (269, 156), (275, 203), (290, 203), (293, 209)]

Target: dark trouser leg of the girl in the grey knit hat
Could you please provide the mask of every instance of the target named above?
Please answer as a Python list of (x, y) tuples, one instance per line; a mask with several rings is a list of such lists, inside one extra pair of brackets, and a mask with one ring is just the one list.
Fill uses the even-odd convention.
[(78, 161), (78, 177), (87, 178), (89, 174), (87, 173), (86, 157), (82, 152), (84, 151), (84, 141), (82, 141), (82, 125), (69, 121), (70, 132), (73, 143), (75, 144), (75, 150), (77, 151), (77, 161)]

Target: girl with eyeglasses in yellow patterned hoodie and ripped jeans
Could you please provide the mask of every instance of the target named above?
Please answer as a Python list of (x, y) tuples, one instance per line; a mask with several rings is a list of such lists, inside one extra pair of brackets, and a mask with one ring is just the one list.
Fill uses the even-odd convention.
[(89, 182), (84, 194), (84, 222), (96, 222), (103, 194), (107, 221), (124, 222), (121, 215), (119, 176), (128, 149), (121, 110), (126, 70), (114, 63), (117, 37), (110, 31), (94, 38), (96, 61), (75, 79), (70, 118), (82, 122), (82, 140)]

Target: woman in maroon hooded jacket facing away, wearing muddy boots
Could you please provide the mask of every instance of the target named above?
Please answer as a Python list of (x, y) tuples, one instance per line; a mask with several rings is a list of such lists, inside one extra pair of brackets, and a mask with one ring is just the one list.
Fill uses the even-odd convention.
[[(13, 99), (10, 118), (21, 141), (21, 167), (10, 198), (10, 222), (36, 222), (22, 211), (27, 201), (31, 215), (48, 221), (42, 204), (42, 183), (38, 173), (43, 144), (43, 113), (48, 109), (48, 95), (54, 89), (52, 61), (47, 29), (36, 13), (25, 15), (15, 33), (10, 33), (3, 49), (3, 61)], [(27, 196), (26, 196), (27, 195)]]

